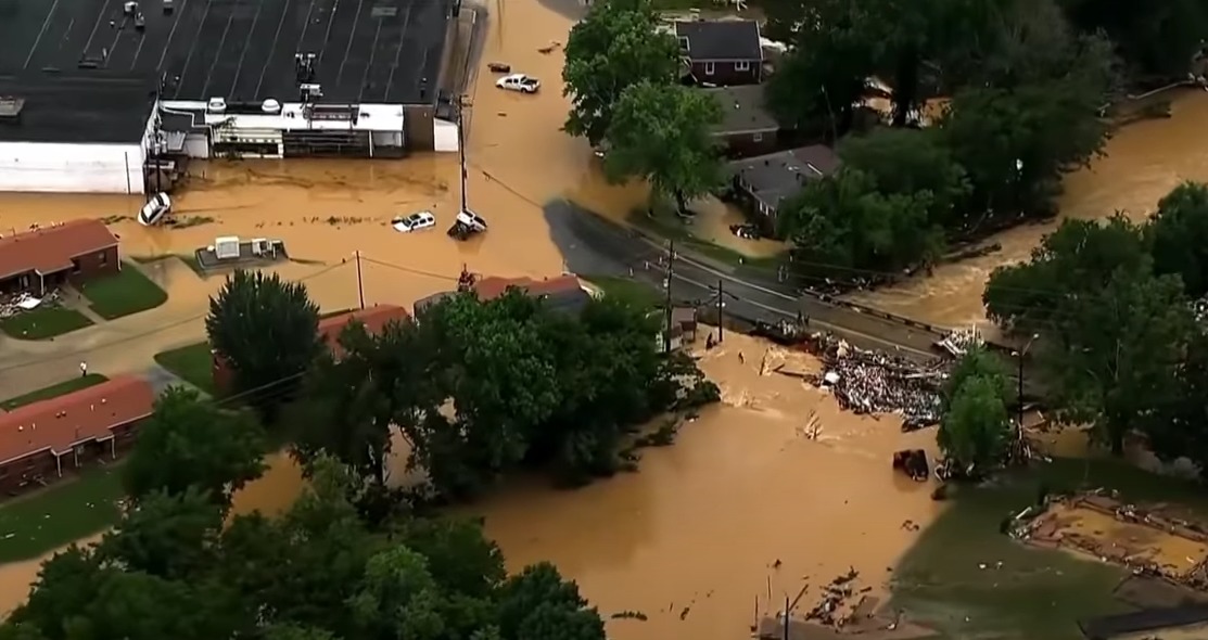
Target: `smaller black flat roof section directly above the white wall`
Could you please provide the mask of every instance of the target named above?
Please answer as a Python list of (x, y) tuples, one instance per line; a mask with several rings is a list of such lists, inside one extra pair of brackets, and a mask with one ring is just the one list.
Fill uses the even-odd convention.
[(151, 82), (99, 76), (0, 76), (0, 95), (25, 100), (18, 120), (0, 118), (4, 141), (139, 142), (155, 104)]

